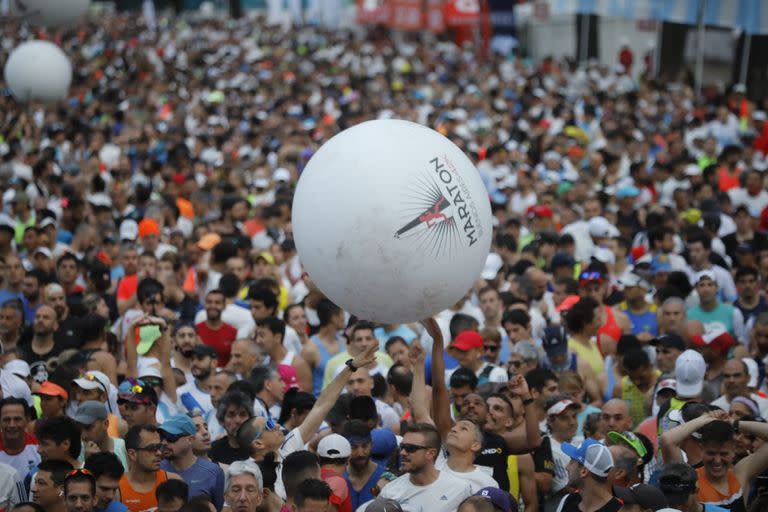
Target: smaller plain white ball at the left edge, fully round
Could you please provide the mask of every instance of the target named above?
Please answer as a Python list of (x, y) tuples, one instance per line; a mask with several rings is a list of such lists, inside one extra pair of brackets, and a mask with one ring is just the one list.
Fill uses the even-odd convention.
[(67, 97), (72, 83), (72, 64), (55, 44), (28, 41), (8, 56), (4, 76), (17, 100), (54, 102)]

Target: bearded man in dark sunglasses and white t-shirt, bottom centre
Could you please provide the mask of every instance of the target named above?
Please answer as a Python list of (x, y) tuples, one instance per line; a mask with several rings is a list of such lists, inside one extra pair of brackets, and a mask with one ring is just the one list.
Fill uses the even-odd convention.
[(437, 429), (428, 423), (412, 424), (400, 443), (400, 467), (405, 474), (387, 484), (379, 496), (397, 501), (405, 512), (457, 510), (472, 495), (471, 486), (435, 467), (439, 452)]

